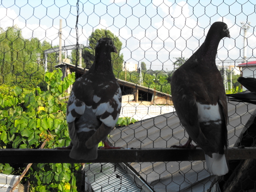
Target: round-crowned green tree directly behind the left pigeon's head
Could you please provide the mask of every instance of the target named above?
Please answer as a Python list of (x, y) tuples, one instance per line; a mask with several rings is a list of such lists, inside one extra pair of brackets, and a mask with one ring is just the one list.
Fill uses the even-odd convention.
[[(123, 69), (123, 61), (124, 61), (124, 56), (123, 53), (120, 54), (120, 50), (122, 49), (122, 42), (119, 40), (119, 38), (114, 35), (110, 30), (105, 30), (105, 29), (96, 29), (94, 32), (91, 33), (91, 36), (89, 37), (89, 46), (86, 46), (83, 49), (83, 56), (84, 59), (87, 59), (87, 65), (90, 65), (93, 63), (93, 60), (90, 61), (95, 55), (95, 46), (100, 38), (103, 37), (109, 37), (114, 40), (114, 45), (116, 46), (117, 52), (116, 53), (111, 53), (111, 58), (113, 62), (113, 72), (114, 75), (117, 77), (118, 73), (122, 71)], [(87, 66), (86, 66), (87, 68)]]

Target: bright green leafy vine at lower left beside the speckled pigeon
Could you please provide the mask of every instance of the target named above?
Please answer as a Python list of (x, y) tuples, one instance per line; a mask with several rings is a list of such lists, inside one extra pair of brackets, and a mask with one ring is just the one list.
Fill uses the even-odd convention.
[[(75, 75), (61, 80), (60, 69), (45, 74), (48, 90), (10, 87), (0, 93), (0, 148), (45, 148), (67, 146), (70, 142), (65, 121), (66, 104), (59, 97), (74, 83)], [(4, 87), (4, 86), (3, 86)], [(50, 158), (50, 157), (49, 157)], [(23, 166), (0, 164), (1, 173), (20, 175)], [(30, 167), (25, 179), (34, 191), (70, 191), (80, 179), (79, 164), (45, 163)], [(52, 174), (54, 173), (54, 174)], [(77, 191), (76, 187), (72, 188)]]

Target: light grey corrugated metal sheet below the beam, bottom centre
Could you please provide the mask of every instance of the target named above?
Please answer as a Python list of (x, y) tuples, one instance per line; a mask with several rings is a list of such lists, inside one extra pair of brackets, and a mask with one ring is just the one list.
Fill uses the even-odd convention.
[(90, 163), (85, 172), (94, 192), (151, 191), (142, 181), (138, 182), (137, 176), (130, 177), (118, 163)]

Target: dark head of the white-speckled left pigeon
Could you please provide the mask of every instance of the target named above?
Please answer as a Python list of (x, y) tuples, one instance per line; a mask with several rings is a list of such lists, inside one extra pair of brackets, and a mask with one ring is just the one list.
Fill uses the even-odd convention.
[(104, 54), (114, 52), (117, 53), (116, 46), (114, 46), (114, 42), (111, 38), (101, 38), (98, 40), (95, 46), (95, 53), (102, 52)]

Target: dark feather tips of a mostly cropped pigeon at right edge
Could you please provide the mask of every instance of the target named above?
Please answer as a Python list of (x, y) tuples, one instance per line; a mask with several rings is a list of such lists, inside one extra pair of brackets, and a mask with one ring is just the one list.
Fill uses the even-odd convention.
[(229, 98), (229, 101), (246, 102), (256, 105), (256, 79), (251, 77), (239, 77), (237, 81), (241, 83), (242, 86), (244, 86), (250, 92), (226, 94), (227, 96), (231, 97)]

